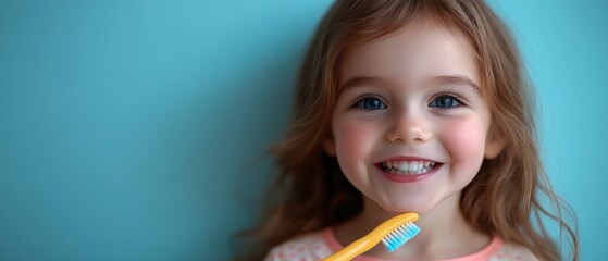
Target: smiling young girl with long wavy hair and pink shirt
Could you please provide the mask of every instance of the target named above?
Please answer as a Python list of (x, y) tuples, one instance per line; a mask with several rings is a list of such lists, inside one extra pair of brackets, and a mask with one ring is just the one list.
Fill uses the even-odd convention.
[(484, 2), (338, 0), (297, 86), (272, 149), (281, 174), (245, 259), (320, 260), (402, 212), (419, 213), (422, 232), (356, 260), (560, 260), (547, 216), (578, 259), (542, 170), (520, 59)]

